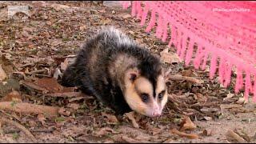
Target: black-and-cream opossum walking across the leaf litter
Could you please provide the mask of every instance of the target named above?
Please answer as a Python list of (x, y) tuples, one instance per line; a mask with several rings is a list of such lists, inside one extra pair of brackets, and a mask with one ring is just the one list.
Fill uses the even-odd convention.
[(134, 110), (156, 117), (167, 102), (159, 58), (114, 26), (104, 27), (82, 46), (61, 83), (78, 86), (117, 114)]

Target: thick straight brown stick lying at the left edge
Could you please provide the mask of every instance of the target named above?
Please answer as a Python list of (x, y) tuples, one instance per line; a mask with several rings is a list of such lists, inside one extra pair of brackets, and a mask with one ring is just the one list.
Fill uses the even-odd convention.
[(0, 110), (11, 110), (23, 114), (46, 114), (54, 117), (58, 115), (60, 108), (56, 106), (42, 106), (26, 102), (0, 102)]

